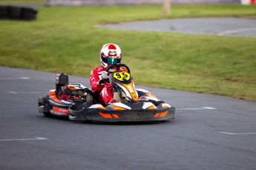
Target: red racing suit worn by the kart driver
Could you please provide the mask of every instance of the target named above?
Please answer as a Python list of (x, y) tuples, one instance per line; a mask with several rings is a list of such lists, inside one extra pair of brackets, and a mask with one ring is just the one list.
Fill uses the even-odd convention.
[[(127, 69), (120, 68), (120, 70), (127, 72)], [(105, 68), (102, 66), (93, 69), (90, 75), (90, 84), (93, 93), (96, 96), (99, 95), (99, 103), (102, 103), (102, 105), (106, 106), (113, 99), (113, 93), (111, 84), (108, 84), (107, 82), (99, 84), (100, 75), (104, 71)]]

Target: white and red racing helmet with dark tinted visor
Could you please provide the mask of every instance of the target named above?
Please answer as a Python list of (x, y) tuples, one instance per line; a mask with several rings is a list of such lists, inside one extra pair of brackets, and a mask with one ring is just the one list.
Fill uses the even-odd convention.
[(107, 68), (110, 64), (120, 64), (122, 52), (116, 44), (104, 44), (100, 51), (100, 61), (102, 67)]

